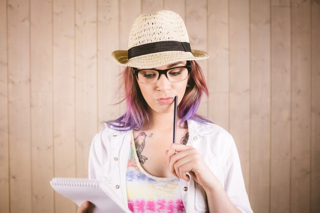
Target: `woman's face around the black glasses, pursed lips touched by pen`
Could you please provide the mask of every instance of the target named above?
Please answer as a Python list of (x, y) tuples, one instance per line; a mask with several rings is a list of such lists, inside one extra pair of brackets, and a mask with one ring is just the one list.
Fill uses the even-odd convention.
[[(171, 64), (155, 67), (155, 69), (168, 69), (171, 67), (186, 66), (186, 64), (187, 61), (178, 61)], [(173, 83), (170, 82), (165, 75), (161, 75), (159, 80), (154, 84), (143, 84), (137, 80), (141, 93), (148, 104), (149, 112), (173, 112), (174, 97), (178, 96), (177, 104), (179, 104), (184, 97), (188, 78), (189, 77), (187, 77), (185, 80)]]

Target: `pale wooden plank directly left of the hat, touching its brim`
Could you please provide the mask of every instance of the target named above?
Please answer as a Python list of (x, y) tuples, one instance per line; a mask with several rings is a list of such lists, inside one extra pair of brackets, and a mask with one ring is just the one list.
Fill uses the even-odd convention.
[[(120, 101), (118, 65), (111, 59), (111, 53), (120, 50), (119, 41), (119, 1), (98, 1), (98, 126), (103, 128), (103, 121), (120, 116), (120, 106), (113, 105)], [(112, 34), (110, 33), (112, 32)]]

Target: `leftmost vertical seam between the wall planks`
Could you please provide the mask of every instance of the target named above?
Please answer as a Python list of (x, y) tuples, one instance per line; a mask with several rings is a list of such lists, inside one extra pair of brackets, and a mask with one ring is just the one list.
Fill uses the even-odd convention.
[(6, 36), (7, 36), (7, 122), (8, 122), (8, 190), (9, 190), (9, 213), (11, 212), (11, 169), (10, 169), (10, 108), (9, 108), (9, 36), (8, 36), (8, 30), (9, 30), (9, 25), (8, 25), (8, 0), (6, 0)]

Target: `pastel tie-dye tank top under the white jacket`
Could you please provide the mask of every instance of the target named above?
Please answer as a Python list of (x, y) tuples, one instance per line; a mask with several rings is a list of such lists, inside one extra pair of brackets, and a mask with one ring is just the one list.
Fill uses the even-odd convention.
[(134, 147), (133, 134), (126, 174), (128, 207), (136, 213), (185, 212), (179, 178), (155, 177), (141, 166)]

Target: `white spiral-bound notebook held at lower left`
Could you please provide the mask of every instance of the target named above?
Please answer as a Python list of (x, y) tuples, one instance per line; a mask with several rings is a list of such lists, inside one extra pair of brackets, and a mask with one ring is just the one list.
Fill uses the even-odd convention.
[(84, 201), (92, 203), (89, 212), (93, 213), (132, 213), (116, 200), (110, 187), (98, 180), (86, 178), (53, 178), (53, 189), (62, 196), (73, 200), (78, 206)]

